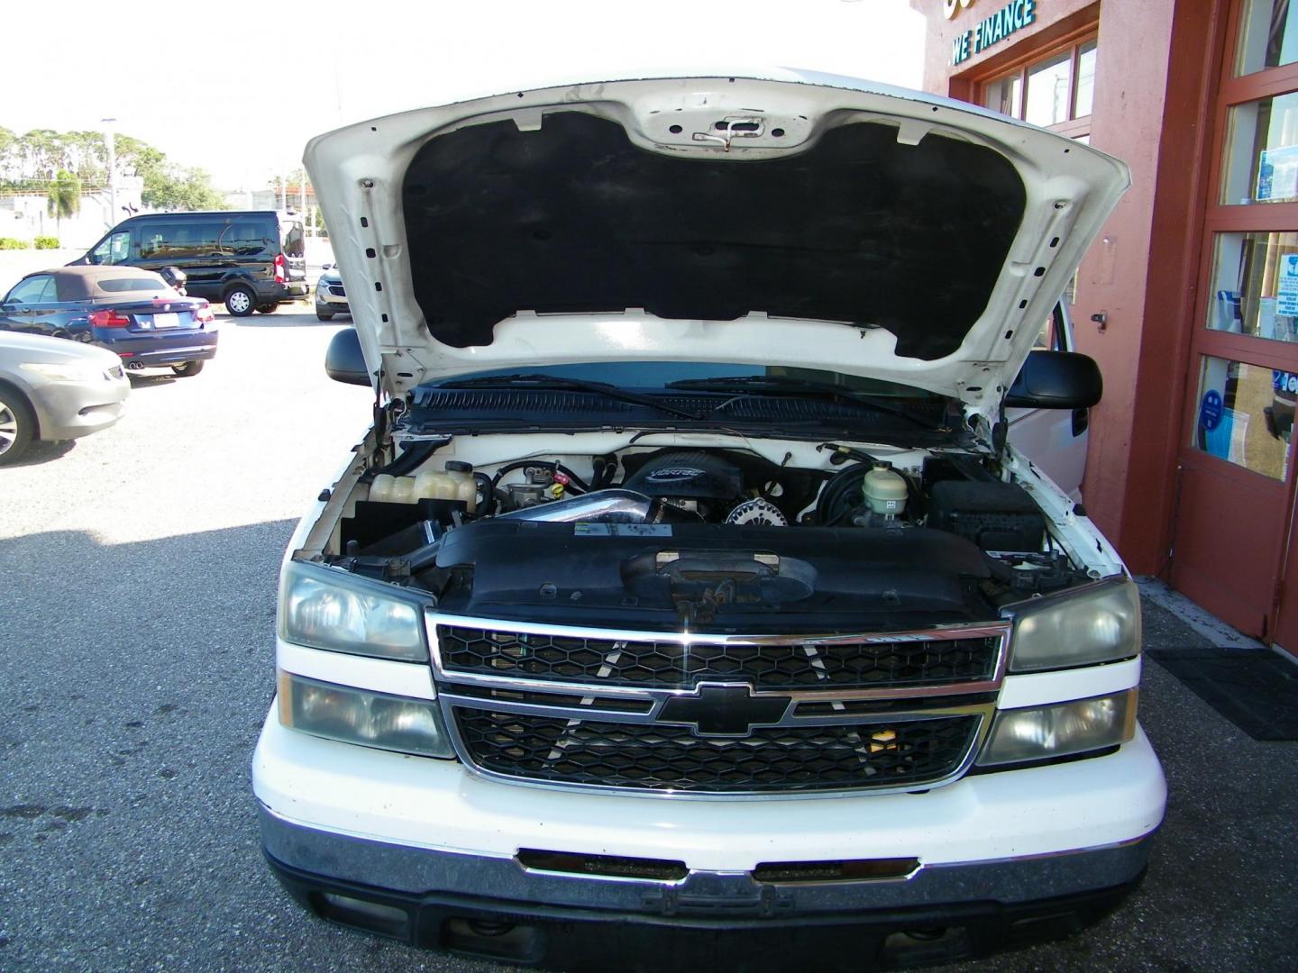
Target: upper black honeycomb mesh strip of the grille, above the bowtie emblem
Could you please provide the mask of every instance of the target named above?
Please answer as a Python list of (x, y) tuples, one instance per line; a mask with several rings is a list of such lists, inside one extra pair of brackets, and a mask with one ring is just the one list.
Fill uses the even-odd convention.
[(704, 680), (754, 689), (880, 689), (994, 679), (996, 637), (839, 645), (705, 645), (620, 642), (439, 625), (448, 673), (691, 688)]

